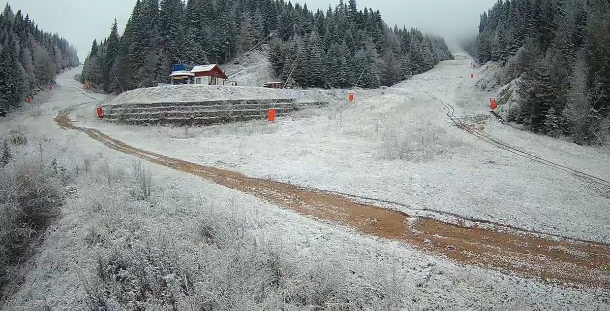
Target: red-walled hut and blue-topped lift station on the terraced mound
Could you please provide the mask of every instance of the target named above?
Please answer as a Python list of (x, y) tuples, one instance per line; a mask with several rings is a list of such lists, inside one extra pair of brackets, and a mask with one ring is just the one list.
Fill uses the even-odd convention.
[(172, 85), (203, 84), (203, 85), (234, 85), (218, 64), (187, 66), (174, 65), (170, 74)]

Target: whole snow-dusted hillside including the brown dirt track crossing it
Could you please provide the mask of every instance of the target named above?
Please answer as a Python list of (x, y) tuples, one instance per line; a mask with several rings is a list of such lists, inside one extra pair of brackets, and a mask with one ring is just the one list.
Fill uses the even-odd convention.
[(0, 308), (605, 309), (604, 188), (476, 138), (427, 94), (548, 161), (603, 177), (608, 156), (501, 124), (456, 58), (352, 103), (190, 128), (99, 120), (66, 72), (0, 124), (30, 138), (2, 176), (67, 189)]

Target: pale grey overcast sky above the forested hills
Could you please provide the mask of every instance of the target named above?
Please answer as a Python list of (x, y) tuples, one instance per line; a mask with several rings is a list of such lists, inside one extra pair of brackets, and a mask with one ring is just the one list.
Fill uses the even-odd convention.
[[(79, 58), (84, 61), (91, 42), (101, 40), (110, 32), (116, 17), (123, 31), (135, 0), (10, 0), (13, 9), (21, 9), (48, 32), (57, 32), (76, 46)], [(292, 1), (307, 3), (310, 10), (326, 10), (339, 0)], [(345, 0), (347, 2), (347, 0)], [(418, 27), (425, 32), (442, 35), (447, 43), (456, 37), (476, 33), (479, 14), (489, 9), (496, 0), (359, 0), (359, 9), (365, 6), (381, 11), (387, 24)], [(0, 0), (2, 9), (7, 3)]]

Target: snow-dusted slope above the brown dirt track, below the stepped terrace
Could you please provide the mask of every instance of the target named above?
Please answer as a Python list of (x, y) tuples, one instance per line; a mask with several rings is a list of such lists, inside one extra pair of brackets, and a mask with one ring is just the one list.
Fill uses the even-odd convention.
[[(572, 175), (458, 130), (442, 105), (421, 93), (451, 103), (456, 116), (479, 119), (477, 127), (514, 147), (601, 178), (610, 176), (607, 153), (493, 119), (489, 96), (495, 94), (475, 88), (484, 78), (479, 76), (490, 73), (470, 64), (458, 55), (393, 88), (358, 90), (353, 103), (303, 111), (274, 124), (130, 127), (97, 121), (90, 108), (75, 116), (80, 125), (134, 147), (249, 176), (610, 242), (608, 198)], [(348, 93), (333, 92), (339, 98)], [(320, 93), (325, 91), (312, 92)]]

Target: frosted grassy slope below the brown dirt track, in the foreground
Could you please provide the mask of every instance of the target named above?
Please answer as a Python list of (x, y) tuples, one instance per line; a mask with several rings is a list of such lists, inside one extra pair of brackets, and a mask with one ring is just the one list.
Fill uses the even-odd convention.
[[(148, 178), (140, 162), (74, 156), (71, 165), (45, 156), (79, 167), (77, 188), (2, 310), (550, 310), (575, 297), (401, 247), (392, 254), (246, 195)], [(154, 200), (134, 196), (143, 184), (156, 186)], [(594, 295), (570, 300), (573, 309), (598, 309)]]

